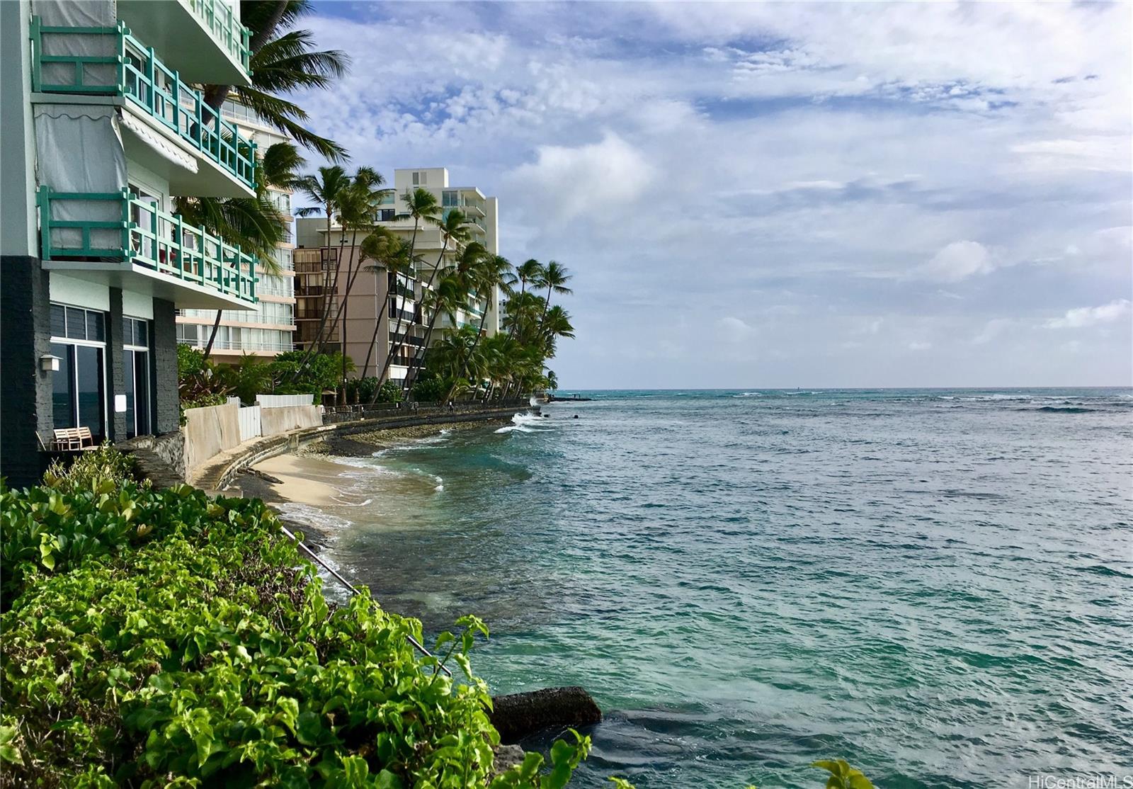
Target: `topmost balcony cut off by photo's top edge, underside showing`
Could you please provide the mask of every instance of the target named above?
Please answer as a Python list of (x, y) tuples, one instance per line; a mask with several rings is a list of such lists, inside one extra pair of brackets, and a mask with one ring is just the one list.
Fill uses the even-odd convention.
[(252, 33), (228, 0), (118, 0), (118, 15), (196, 83), (250, 84)]

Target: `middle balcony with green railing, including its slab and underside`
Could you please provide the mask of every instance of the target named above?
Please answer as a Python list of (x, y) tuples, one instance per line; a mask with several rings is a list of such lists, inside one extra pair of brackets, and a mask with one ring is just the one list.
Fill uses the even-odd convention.
[[(49, 54), (60, 49), (102, 53)], [(205, 104), (199, 91), (162, 63), (153, 48), (135, 39), (122, 23), (117, 27), (48, 27), (33, 18), (32, 91), (122, 99), (125, 108), (138, 116), (133, 122), (123, 118), (122, 124), (131, 141), (143, 144), (131, 153), (143, 166), (168, 177), (174, 194), (247, 197), (255, 193), (256, 144)], [(170, 143), (172, 152), (165, 150)]]

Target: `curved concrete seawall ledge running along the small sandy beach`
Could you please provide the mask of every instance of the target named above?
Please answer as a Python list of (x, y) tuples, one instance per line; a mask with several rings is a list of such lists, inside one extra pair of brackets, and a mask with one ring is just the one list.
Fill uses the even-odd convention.
[[(536, 409), (537, 410), (537, 409)], [(338, 433), (351, 435), (370, 433), (380, 430), (397, 430), (399, 427), (417, 427), (419, 425), (446, 425), (459, 422), (489, 422), (506, 419), (517, 413), (517, 407), (485, 408), (483, 410), (438, 412), (433, 414), (382, 416), (356, 422), (340, 422), (316, 427), (300, 427), (279, 435), (266, 435), (246, 441), (227, 452), (205, 461), (189, 474), (188, 483), (211, 492), (220, 492), (232, 484), (233, 478), (242, 469), (254, 466), (261, 460), (273, 458), (284, 452), (293, 452), (326, 435)]]

